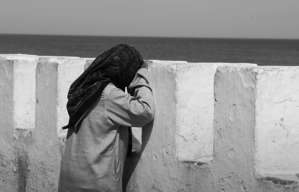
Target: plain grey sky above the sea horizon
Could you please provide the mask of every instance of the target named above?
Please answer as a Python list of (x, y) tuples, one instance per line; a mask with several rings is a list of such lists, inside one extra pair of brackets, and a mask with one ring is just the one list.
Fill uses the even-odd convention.
[(299, 0), (1, 0), (0, 33), (299, 39)]

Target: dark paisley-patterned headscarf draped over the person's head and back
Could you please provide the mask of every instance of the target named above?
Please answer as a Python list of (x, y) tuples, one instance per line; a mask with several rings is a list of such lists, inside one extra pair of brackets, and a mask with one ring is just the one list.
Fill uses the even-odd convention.
[(99, 55), (71, 84), (66, 108), (69, 113), (67, 129), (76, 124), (83, 113), (97, 100), (109, 83), (125, 90), (143, 64), (140, 53), (126, 44), (119, 44)]

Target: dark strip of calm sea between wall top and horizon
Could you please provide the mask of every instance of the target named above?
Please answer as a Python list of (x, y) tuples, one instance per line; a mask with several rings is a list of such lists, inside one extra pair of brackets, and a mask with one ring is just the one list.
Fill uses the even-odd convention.
[(0, 34), (0, 54), (95, 58), (125, 43), (143, 59), (299, 66), (299, 40)]

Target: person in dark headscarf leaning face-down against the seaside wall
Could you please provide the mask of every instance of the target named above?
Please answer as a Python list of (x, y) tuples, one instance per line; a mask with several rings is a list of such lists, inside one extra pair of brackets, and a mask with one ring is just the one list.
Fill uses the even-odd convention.
[(127, 127), (142, 127), (154, 116), (151, 62), (120, 44), (99, 55), (70, 86), (59, 192), (122, 191)]

